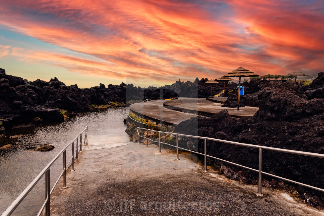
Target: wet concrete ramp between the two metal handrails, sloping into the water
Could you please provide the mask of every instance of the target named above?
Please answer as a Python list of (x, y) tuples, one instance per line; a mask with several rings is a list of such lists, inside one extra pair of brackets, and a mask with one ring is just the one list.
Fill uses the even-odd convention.
[(192, 154), (130, 143), (85, 150), (75, 171), (62, 178), (51, 215), (324, 215), (288, 194), (229, 180)]

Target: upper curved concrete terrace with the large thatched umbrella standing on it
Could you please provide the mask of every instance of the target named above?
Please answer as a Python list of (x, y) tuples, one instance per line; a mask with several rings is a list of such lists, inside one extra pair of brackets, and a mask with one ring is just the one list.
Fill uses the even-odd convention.
[(203, 115), (204, 113), (215, 114), (219, 111), (227, 110), (228, 114), (234, 117), (253, 116), (259, 110), (258, 107), (250, 106), (240, 107), (239, 110), (237, 108), (222, 107), (222, 104), (207, 101), (206, 98), (180, 98), (179, 100), (166, 101), (164, 104), (173, 108), (183, 109), (186, 112), (197, 111), (198, 114)]

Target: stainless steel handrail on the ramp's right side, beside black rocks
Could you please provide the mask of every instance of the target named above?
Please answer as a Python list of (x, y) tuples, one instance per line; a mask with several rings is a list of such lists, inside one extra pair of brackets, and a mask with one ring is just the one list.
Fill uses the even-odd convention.
[[(146, 137), (141, 136), (139, 134), (138, 129), (146, 130)], [(261, 191), (262, 190), (262, 174), (268, 175), (268, 176), (271, 176), (271, 177), (275, 177), (275, 178), (279, 178), (279, 179), (282, 179), (282, 180), (285, 180), (285, 181), (289, 181), (289, 182), (292, 182), (292, 183), (295, 183), (295, 184), (298, 184), (298, 185), (301, 185), (301, 186), (304, 186), (304, 187), (308, 187), (308, 188), (311, 188), (311, 189), (315, 189), (315, 190), (319, 190), (319, 191), (324, 192), (324, 189), (317, 188), (317, 187), (314, 187), (314, 186), (311, 186), (311, 185), (307, 185), (307, 184), (304, 184), (304, 183), (300, 183), (300, 182), (297, 182), (297, 181), (293, 181), (293, 180), (290, 180), (290, 179), (287, 179), (287, 178), (283, 178), (283, 177), (280, 177), (280, 176), (272, 175), (270, 173), (266, 173), (266, 172), (263, 172), (261, 170), (261, 168), (262, 168), (262, 166), (261, 166), (262, 165), (262, 150), (263, 149), (264, 150), (270, 150), (270, 151), (276, 151), (276, 152), (284, 152), (284, 153), (289, 153), (289, 154), (295, 154), (295, 155), (304, 155), (304, 156), (310, 156), (310, 157), (319, 157), (319, 158), (324, 158), (324, 154), (318, 154), (318, 153), (312, 153), (312, 152), (303, 152), (303, 151), (295, 151), (295, 150), (289, 150), (289, 149), (283, 149), (283, 148), (273, 148), (273, 147), (268, 147), (268, 146), (251, 145), (251, 144), (238, 143), (238, 142), (221, 140), (221, 139), (215, 139), (215, 138), (204, 137), (204, 136), (194, 136), (194, 135), (177, 134), (177, 133), (164, 132), (164, 131), (156, 131), (156, 130), (151, 130), (151, 129), (147, 129), (147, 128), (141, 128), (141, 127), (137, 127), (136, 128), (136, 131), (137, 131), (137, 134), (138, 134), (138, 143), (140, 143), (140, 137), (146, 138), (146, 146), (147, 146), (147, 143), (148, 143), (147, 141), (148, 140), (151, 140), (151, 139), (149, 139), (147, 137), (147, 134), (148, 134), (147, 132), (148, 131), (152, 131), (152, 132), (159, 133), (159, 141), (154, 141), (154, 140), (151, 140), (151, 141), (152, 142), (159, 143), (159, 152), (161, 152), (161, 143), (162, 144), (169, 145), (169, 146), (176, 147), (177, 148), (177, 160), (179, 160), (178, 149), (182, 149), (182, 150), (185, 150), (185, 151), (189, 151), (189, 152), (192, 152), (192, 153), (196, 153), (196, 154), (199, 154), (199, 155), (203, 155), (204, 156), (204, 172), (207, 172), (207, 163), (206, 163), (206, 158), (207, 157), (214, 158), (216, 160), (220, 160), (220, 161), (223, 161), (223, 162), (226, 162), (226, 163), (229, 163), (229, 164), (233, 164), (233, 165), (236, 165), (236, 166), (239, 166), (239, 167), (243, 167), (243, 168), (246, 168), (246, 169), (249, 169), (249, 170), (258, 172), (259, 173), (259, 182), (258, 182), (258, 194), (257, 194), (257, 196), (263, 196), (262, 193), (261, 193), (262, 192)], [(171, 145), (171, 144), (168, 144), (168, 143), (161, 142), (161, 133), (162, 134), (176, 135), (176, 139), (177, 139), (176, 143), (177, 143), (177, 146), (174, 146), (174, 145)], [(200, 152), (191, 151), (189, 149), (185, 149), (185, 148), (179, 147), (178, 146), (178, 136), (185, 136), (185, 137), (191, 137), (191, 138), (204, 139), (204, 154), (203, 153), (200, 153)], [(258, 148), (259, 149), (259, 170), (253, 169), (251, 167), (246, 167), (246, 166), (243, 166), (243, 165), (240, 165), (240, 164), (236, 164), (236, 163), (233, 163), (233, 162), (224, 160), (224, 159), (220, 159), (220, 158), (217, 158), (217, 157), (213, 157), (213, 156), (207, 155), (206, 154), (206, 140), (211, 140), (211, 141), (216, 141), (216, 142), (222, 142), (222, 143), (228, 143), (228, 144), (233, 144), (233, 145), (238, 145), (238, 146)]]

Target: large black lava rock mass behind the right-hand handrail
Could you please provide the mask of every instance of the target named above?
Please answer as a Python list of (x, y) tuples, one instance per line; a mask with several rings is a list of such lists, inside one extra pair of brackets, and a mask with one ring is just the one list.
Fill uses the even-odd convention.
[[(316, 85), (319, 88), (321, 86), (319, 83)], [(183, 121), (176, 126), (174, 132), (324, 154), (324, 99), (307, 100), (301, 86), (294, 82), (267, 82), (253, 95), (258, 100), (256, 106), (260, 107), (254, 116), (234, 118), (223, 110), (213, 118), (198, 116)], [(203, 153), (202, 140), (183, 139), (179, 145)], [(258, 169), (258, 149), (208, 142), (207, 154)], [(253, 171), (216, 160), (211, 162), (219, 165), (229, 178), (249, 184), (258, 181), (257, 173)], [(321, 180), (324, 178), (322, 163), (319, 158), (264, 151), (262, 170), (324, 188)], [(264, 184), (280, 188), (278, 179), (267, 176), (263, 178)], [(297, 196), (309, 204), (323, 206), (323, 193), (294, 187)]]

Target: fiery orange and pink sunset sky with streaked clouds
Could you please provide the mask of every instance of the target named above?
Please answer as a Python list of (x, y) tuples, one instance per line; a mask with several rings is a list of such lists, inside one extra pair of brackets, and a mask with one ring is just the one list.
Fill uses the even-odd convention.
[(79, 87), (324, 71), (324, 1), (0, 0), (0, 68)]

